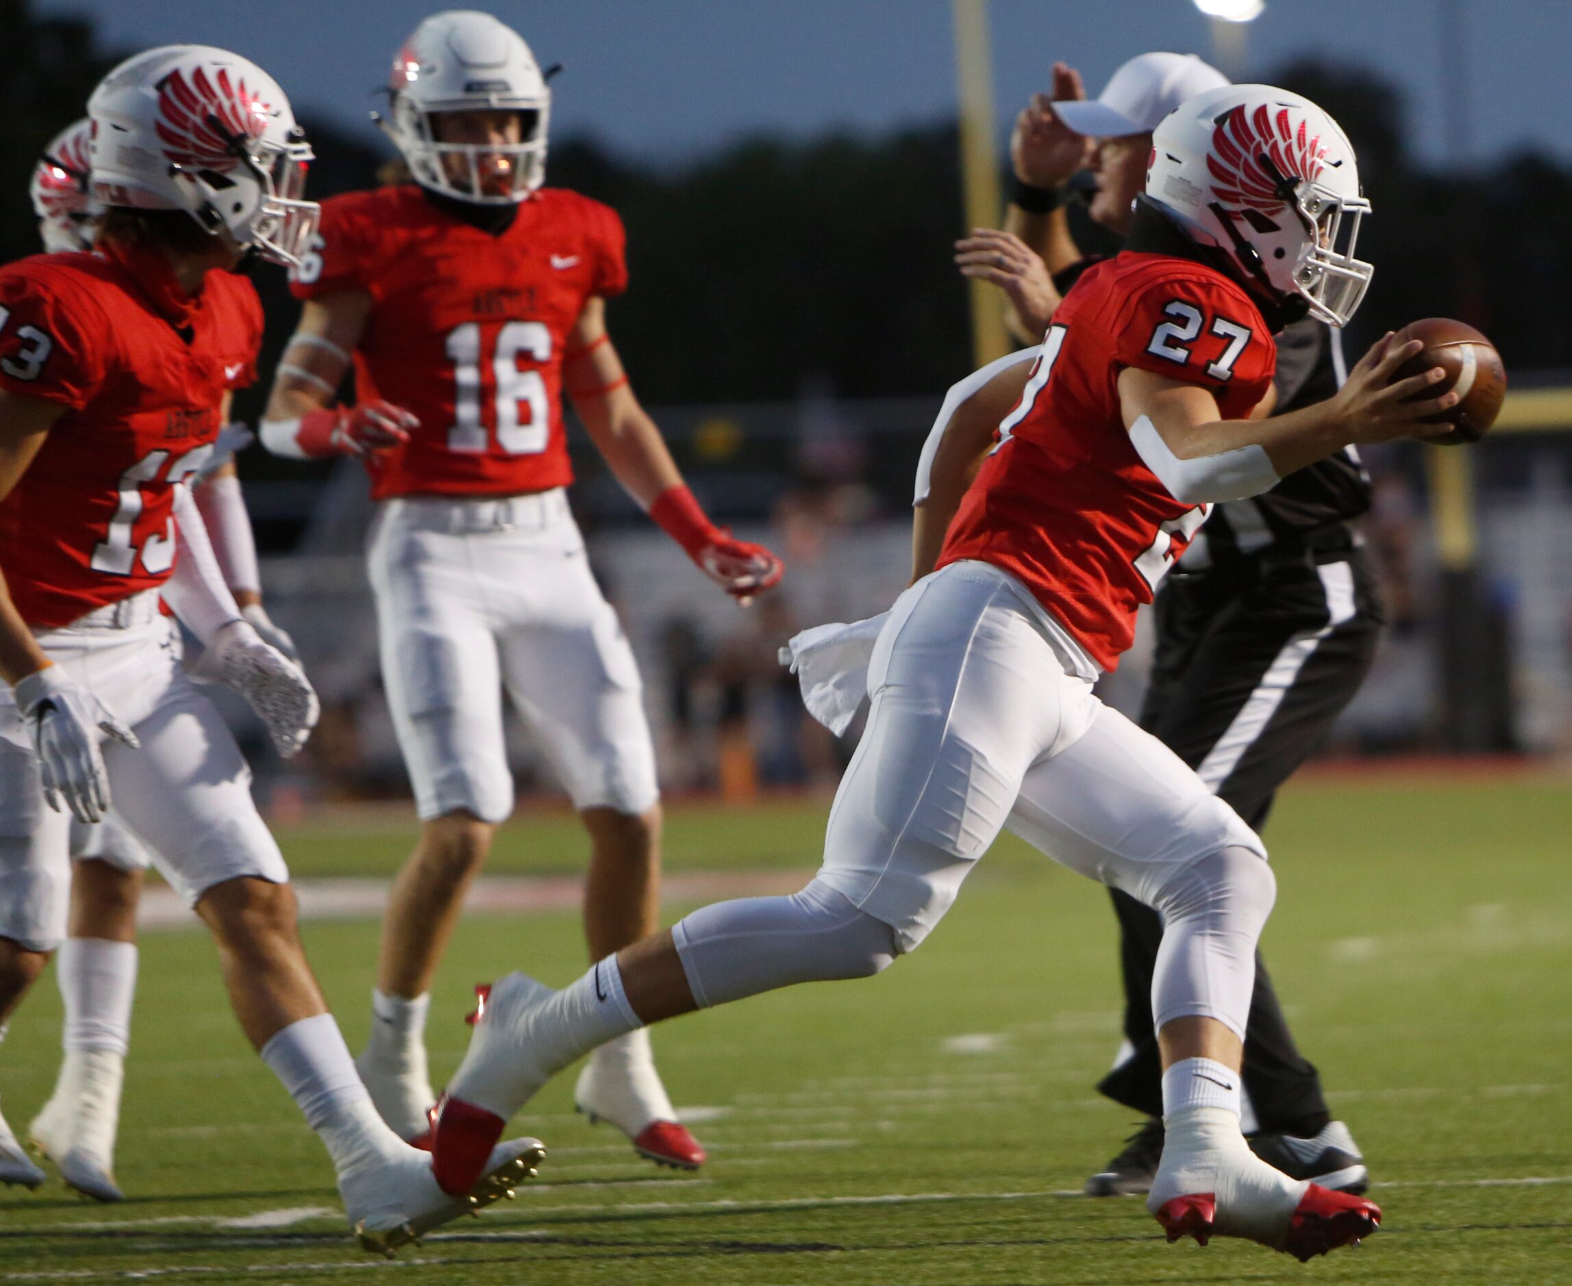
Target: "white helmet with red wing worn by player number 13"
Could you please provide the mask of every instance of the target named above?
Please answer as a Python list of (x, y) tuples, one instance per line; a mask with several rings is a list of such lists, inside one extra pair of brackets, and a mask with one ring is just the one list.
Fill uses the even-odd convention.
[(203, 44), (149, 49), (99, 82), (88, 118), (105, 206), (181, 209), (266, 259), (299, 263), (321, 209), (300, 200), (311, 146), (256, 63)]

